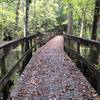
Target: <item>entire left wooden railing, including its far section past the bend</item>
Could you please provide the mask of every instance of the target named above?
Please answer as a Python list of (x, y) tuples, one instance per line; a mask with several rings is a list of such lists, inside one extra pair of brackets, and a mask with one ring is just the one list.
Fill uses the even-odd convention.
[[(3, 99), (7, 99), (10, 90), (9, 84), (15, 72), (18, 71), (18, 73), (21, 74), (30, 58), (32, 57), (32, 51), (36, 51), (36, 49), (42, 46), (46, 41), (48, 41), (48, 39), (53, 36), (53, 34), (31, 35), (21, 39), (5, 42), (0, 45), (0, 97), (2, 97), (1, 94), (3, 94)], [(10, 70), (8, 71), (7, 68), (9, 65), (6, 64), (6, 58), (18, 46), (21, 48), (21, 57), (18, 58), (17, 62), (14, 62), (14, 65), (10, 66)], [(11, 58), (12, 57), (8, 59)]]

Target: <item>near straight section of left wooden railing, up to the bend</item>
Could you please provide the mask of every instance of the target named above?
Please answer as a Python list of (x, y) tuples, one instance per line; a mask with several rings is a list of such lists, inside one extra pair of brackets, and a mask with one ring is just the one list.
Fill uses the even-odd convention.
[[(19, 68), (20, 62), (23, 60), (22, 68), (20, 68), (20, 72), (24, 69), (25, 64), (27, 64), (26, 57), (30, 54), (30, 56), (27, 58), (27, 61), (32, 56), (32, 40), (35, 40), (36, 35), (27, 36), (21, 39), (15, 39), (9, 42), (6, 42), (2, 45), (0, 45), (0, 71), (1, 71), (1, 79), (0, 79), (0, 91), (3, 93), (3, 99), (6, 99), (9, 94), (9, 81), (15, 71)], [(6, 57), (7, 55), (15, 48), (17, 48), (19, 45), (21, 45), (21, 52), (22, 57), (18, 60), (15, 65), (12, 65), (11, 70), (7, 71), (6, 66)], [(11, 58), (9, 58), (11, 59)], [(25, 64), (24, 64), (25, 62)]]

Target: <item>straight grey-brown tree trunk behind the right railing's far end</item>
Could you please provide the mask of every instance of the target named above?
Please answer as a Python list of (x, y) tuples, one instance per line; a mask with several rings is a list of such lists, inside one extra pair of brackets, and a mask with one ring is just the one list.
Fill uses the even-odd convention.
[(73, 11), (72, 5), (68, 4), (68, 30), (67, 34), (73, 35)]

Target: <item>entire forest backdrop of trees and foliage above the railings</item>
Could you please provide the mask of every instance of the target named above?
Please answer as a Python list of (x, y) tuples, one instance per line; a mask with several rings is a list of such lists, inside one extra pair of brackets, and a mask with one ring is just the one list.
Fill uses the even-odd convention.
[(51, 31), (91, 38), (100, 26), (98, 1), (0, 0), (0, 40)]

